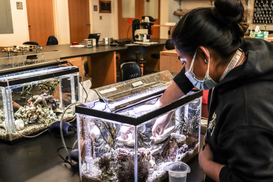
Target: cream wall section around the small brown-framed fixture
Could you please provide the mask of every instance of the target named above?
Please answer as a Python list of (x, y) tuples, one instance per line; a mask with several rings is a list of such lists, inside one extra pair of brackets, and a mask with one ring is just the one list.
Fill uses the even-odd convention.
[[(103, 37), (118, 38), (117, 0), (111, 1), (111, 13), (99, 13), (98, 0), (92, 0), (92, 6), (90, 7), (93, 12), (93, 33), (101, 33), (100, 40), (102, 40)], [(93, 5), (98, 5), (98, 11), (93, 11)], [(101, 20), (100, 16), (102, 16)]]

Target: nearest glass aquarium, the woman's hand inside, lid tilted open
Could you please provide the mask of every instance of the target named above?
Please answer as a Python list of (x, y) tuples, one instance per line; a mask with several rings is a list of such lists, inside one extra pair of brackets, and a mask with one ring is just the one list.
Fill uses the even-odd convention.
[(172, 80), (162, 71), (103, 86), (102, 99), (76, 106), (82, 182), (158, 182), (166, 165), (199, 153), (203, 91), (154, 106)]

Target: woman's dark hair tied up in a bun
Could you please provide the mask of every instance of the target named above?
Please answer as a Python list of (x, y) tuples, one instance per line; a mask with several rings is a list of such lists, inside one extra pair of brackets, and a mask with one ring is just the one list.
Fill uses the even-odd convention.
[(241, 46), (247, 29), (240, 0), (215, 0), (214, 7), (195, 8), (186, 13), (174, 28), (172, 41), (181, 53), (193, 55), (198, 47), (204, 46), (227, 58)]

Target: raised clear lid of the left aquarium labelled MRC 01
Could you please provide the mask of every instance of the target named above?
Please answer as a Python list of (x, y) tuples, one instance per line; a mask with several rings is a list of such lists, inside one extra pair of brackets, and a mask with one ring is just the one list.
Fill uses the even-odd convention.
[(9, 71), (27, 69), (34, 66), (46, 66), (60, 62), (61, 51), (43, 52), (36, 54), (0, 58), (0, 75)]

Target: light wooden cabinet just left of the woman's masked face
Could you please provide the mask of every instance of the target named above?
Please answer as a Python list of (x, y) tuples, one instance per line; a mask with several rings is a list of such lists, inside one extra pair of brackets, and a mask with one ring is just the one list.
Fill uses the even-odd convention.
[(174, 49), (160, 52), (160, 71), (168, 70), (171, 74), (179, 73), (183, 67), (184, 64), (178, 59)]

